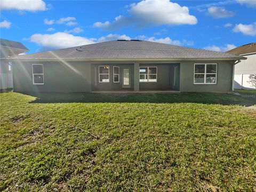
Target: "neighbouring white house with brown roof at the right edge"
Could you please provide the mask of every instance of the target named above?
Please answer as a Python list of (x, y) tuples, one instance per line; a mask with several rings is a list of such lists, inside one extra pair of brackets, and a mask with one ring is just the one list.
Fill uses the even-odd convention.
[(256, 43), (250, 43), (227, 51), (246, 57), (235, 66), (235, 89), (256, 90)]

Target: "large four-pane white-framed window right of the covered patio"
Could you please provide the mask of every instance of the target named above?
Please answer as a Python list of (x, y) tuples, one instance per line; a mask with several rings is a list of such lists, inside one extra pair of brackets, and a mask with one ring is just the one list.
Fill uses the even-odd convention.
[(195, 63), (194, 83), (195, 84), (216, 84), (217, 63), (199, 64)]

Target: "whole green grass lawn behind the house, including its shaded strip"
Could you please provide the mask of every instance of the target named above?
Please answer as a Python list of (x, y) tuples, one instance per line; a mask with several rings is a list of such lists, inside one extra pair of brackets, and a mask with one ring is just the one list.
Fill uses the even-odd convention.
[(256, 110), (242, 107), (255, 100), (10, 92), (0, 102), (0, 191), (256, 191)]

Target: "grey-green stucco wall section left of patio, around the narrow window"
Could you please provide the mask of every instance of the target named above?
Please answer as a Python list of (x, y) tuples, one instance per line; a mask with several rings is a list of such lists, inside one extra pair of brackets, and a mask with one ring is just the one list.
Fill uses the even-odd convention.
[[(43, 85), (33, 85), (32, 64), (43, 64)], [(13, 62), (13, 87), (15, 92), (89, 92), (91, 66), (82, 61)]]

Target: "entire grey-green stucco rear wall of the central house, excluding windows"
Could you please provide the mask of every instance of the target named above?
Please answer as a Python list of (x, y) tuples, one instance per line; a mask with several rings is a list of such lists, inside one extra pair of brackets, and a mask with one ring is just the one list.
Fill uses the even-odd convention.
[[(235, 61), (13, 61), (13, 84), (15, 92), (90, 92), (93, 90), (93, 66), (111, 65), (131, 67), (131, 90), (173, 89), (173, 66), (179, 66), (178, 86), (181, 92), (231, 92), (233, 64)], [(110, 63), (110, 64), (109, 64)], [(135, 63), (135, 64), (134, 64)], [(178, 64), (180, 63), (180, 64)], [(194, 63), (218, 63), (217, 84), (194, 84)], [(32, 64), (44, 65), (44, 85), (33, 85)], [(167, 65), (169, 64), (169, 65)], [(92, 66), (92, 68), (91, 68)], [(139, 66), (157, 66), (158, 83), (139, 83)], [(172, 67), (170, 67), (172, 66)], [(111, 67), (111, 68), (112, 68)], [(166, 68), (167, 67), (167, 68)], [(113, 71), (110, 68), (110, 82), (113, 82)], [(122, 69), (120, 68), (120, 71)], [(98, 69), (97, 69), (98, 71)], [(112, 71), (112, 72), (111, 72)], [(95, 73), (95, 72), (94, 72)], [(98, 73), (96, 73), (98, 75)], [(121, 73), (122, 74), (122, 73)], [(135, 78), (136, 77), (136, 78)], [(122, 79), (120, 75), (120, 80)], [(96, 77), (98, 80), (98, 77)], [(122, 82), (122, 81), (121, 81)], [(152, 84), (152, 85), (151, 85)], [(102, 84), (103, 85), (103, 84)], [(103, 86), (106, 86), (104, 83)], [(148, 87), (147, 87), (148, 86)], [(136, 89), (135, 89), (136, 87)], [(179, 88), (179, 89), (178, 89)], [(105, 88), (104, 88), (105, 89)], [(99, 90), (104, 90), (100, 87)], [(107, 89), (108, 90), (108, 89)]]

